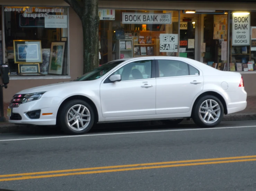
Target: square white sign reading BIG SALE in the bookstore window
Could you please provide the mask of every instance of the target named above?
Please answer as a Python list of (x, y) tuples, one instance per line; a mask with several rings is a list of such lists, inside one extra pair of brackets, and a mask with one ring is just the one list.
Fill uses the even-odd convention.
[(160, 34), (160, 52), (178, 52), (178, 34)]

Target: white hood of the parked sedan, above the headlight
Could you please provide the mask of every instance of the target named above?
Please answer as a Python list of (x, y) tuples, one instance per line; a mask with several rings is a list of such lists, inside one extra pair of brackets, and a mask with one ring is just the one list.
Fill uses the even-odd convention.
[[(51, 91), (51, 90), (56, 90), (56, 89), (60, 89), (60, 88), (69, 88), (70, 86), (73, 85), (73, 83), (81, 83), (81, 82), (82, 81), (70, 81), (70, 82), (53, 83), (53, 84), (48, 84), (48, 85), (45, 85), (45, 86), (38, 86), (38, 87), (35, 87), (35, 88), (25, 89), (25, 90), (22, 90), (22, 91), (18, 92), (17, 94), (45, 92), (45, 91)], [(83, 81), (83, 82), (85, 82), (85, 81)]]

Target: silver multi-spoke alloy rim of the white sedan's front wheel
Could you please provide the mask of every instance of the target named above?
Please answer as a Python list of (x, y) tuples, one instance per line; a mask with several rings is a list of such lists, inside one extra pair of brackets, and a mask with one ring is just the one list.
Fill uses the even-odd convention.
[(77, 104), (68, 110), (66, 120), (71, 129), (82, 131), (88, 127), (91, 120), (90, 116), (90, 111), (87, 107)]

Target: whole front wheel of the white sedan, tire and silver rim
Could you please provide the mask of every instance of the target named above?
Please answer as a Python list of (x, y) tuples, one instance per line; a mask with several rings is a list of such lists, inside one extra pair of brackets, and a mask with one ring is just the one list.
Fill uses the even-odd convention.
[(63, 106), (59, 124), (68, 134), (87, 133), (94, 124), (94, 111), (86, 101), (71, 100)]

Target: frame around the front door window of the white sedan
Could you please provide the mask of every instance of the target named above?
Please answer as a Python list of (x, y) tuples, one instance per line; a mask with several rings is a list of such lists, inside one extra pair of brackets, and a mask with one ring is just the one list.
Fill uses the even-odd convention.
[[(156, 78), (156, 61), (154, 58), (149, 58), (149, 59), (140, 59), (140, 60), (131, 60), (125, 64), (122, 64), (120, 67), (118, 67), (117, 69), (115, 69), (113, 72), (111, 72), (111, 74), (109, 74), (109, 76), (107, 76), (103, 81), (103, 83), (113, 83), (112, 81), (109, 80), (109, 78), (114, 75), (114, 73), (117, 70), (120, 70), (121, 68), (123, 68), (124, 66), (126, 66), (127, 64), (130, 64), (132, 62), (139, 62), (139, 61), (143, 61), (143, 60), (149, 60), (151, 61), (151, 78), (143, 78), (143, 79), (138, 79), (138, 80), (146, 80), (146, 79), (154, 79)], [(123, 80), (121, 79), (121, 81), (119, 82), (126, 82), (126, 81), (138, 81), (138, 80)]]

